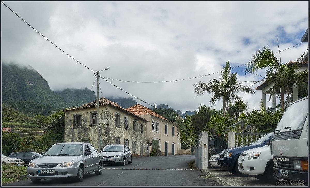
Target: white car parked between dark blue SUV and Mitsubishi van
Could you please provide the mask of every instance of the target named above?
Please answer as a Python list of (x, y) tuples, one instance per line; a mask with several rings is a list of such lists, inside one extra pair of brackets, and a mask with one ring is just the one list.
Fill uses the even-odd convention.
[(246, 150), (238, 159), (238, 168), (241, 173), (254, 175), (259, 180), (267, 179), (276, 184), (283, 178), (273, 174), (273, 167), (270, 145)]

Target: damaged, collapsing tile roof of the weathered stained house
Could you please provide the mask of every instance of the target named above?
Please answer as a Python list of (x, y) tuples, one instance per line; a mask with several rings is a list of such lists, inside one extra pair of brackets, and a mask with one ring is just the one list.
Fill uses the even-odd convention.
[[(99, 99), (99, 107), (100, 106), (113, 106), (114, 108), (117, 108), (119, 110), (122, 110), (128, 114), (131, 114), (135, 117), (138, 117), (140, 119), (143, 119), (141, 118), (140, 116), (138, 116), (138, 114), (134, 114), (128, 110), (126, 110), (125, 108), (123, 108), (122, 106), (118, 105), (116, 102), (112, 102), (112, 101), (109, 101), (108, 99), (104, 98), (104, 97), (101, 97)], [(71, 109), (68, 109), (68, 110), (62, 110), (63, 112), (69, 112), (69, 111), (74, 111), (74, 110), (80, 110), (80, 109), (87, 109), (87, 108), (94, 108), (94, 107), (97, 107), (97, 100), (96, 101), (93, 101), (91, 103), (88, 103), (88, 104), (85, 104), (85, 105), (82, 105), (82, 106), (79, 106), (79, 107), (75, 107), (75, 108), (71, 108)], [(146, 122), (148, 122), (148, 120), (146, 119), (143, 119), (145, 120)]]

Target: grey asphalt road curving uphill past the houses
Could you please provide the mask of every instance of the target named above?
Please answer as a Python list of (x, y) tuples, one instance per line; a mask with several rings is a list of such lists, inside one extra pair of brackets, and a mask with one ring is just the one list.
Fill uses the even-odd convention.
[(29, 178), (2, 186), (221, 186), (201, 170), (190, 168), (188, 163), (193, 161), (194, 155), (139, 157), (125, 166), (105, 164), (100, 176), (86, 174), (82, 182), (67, 178), (32, 183)]

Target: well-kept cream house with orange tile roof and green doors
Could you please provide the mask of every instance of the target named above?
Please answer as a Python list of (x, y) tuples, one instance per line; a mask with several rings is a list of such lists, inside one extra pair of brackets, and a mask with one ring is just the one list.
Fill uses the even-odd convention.
[(142, 105), (135, 105), (126, 110), (139, 115), (147, 122), (147, 153), (157, 150), (160, 155), (177, 155), (181, 148), (180, 132), (177, 123), (173, 123), (161, 115)]

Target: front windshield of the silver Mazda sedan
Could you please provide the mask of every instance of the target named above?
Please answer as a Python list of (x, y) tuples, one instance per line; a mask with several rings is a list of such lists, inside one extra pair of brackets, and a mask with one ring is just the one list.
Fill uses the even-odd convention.
[(82, 155), (82, 144), (55, 144), (43, 156)]

